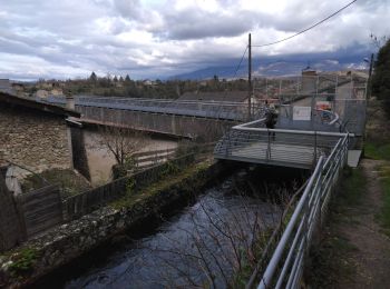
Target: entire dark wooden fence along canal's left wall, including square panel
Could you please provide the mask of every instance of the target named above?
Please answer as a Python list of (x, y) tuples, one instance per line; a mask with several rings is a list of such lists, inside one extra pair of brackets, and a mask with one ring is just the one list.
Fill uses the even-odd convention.
[(21, 236), (30, 239), (64, 221), (80, 218), (128, 191), (136, 193), (150, 182), (167, 177), (194, 161), (195, 153), (188, 153), (72, 196), (65, 201), (61, 200), (59, 187), (52, 185), (19, 195), (14, 200), (21, 223)]

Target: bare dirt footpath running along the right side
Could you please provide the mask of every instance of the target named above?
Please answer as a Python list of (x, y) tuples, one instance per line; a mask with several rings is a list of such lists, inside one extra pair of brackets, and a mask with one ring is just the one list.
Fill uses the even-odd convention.
[(390, 239), (376, 220), (382, 203), (378, 165), (379, 161), (362, 160), (367, 191), (360, 205), (345, 208), (344, 217), (337, 225), (338, 235), (353, 248), (344, 261), (354, 273), (340, 277), (335, 288), (390, 288)]

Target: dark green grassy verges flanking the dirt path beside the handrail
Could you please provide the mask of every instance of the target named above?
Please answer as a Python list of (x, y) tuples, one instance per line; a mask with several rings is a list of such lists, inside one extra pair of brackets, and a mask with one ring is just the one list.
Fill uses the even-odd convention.
[[(369, 262), (371, 267), (362, 263), (362, 256), (370, 250), (374, 252), (374, 246), (380, 242), (377, 231), (384, 231), (390, 237), (390, 124), (377, 100), (369, 101), (365, 132), (364, 158), (376, 162), (343, 171), (321, 243), (311, 252), (306, 280), (313, 288), (364, 287), (364, 282), (372, 285), (367, 273), (376, 276), (376, 270), (386, 270), (372, 268), (372, 262)], [(378, 175), (379, 178), (372, 177)], [(364, 228), (376, 228), (376, 225), (379, 225), (378, 229), (365, 236)], [(359, 240), (364, 238), (364, 241)], [(364, 250), (364, 246), (370, 249)]]

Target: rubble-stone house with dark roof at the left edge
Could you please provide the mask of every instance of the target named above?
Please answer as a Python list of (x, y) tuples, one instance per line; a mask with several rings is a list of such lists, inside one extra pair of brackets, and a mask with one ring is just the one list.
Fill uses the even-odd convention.
[(68, 117), (80, 113), (0, 91), (0, 163), (35, 172), (74, 168)]

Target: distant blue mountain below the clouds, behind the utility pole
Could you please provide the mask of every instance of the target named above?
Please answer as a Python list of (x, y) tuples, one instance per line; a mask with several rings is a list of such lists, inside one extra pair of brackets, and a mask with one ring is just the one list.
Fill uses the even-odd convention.
[[(302, 70), (310, 66), (318, 71), (339, 71), (347, 69), (364, 69), (368, 63), (363, 61), (370, 56), (365, 49), (355, 49), (353, 52), (347, 49), (333, 53), (290, 54), (279, 57), (264, 57), (254, 59), (252, 62), (253, 76), (280, 77), (301, 74)], [(169, 77), (168, 79), (202, 80), (214, 76), (222, 78), (247, 78), (247, 63), (243, 62), (236, 71), (240, 59), (226, 62), (232, 64), (213, 66), (199, 70)], [(246, 60), (247, 61), (247, 60)]]

